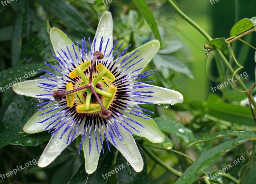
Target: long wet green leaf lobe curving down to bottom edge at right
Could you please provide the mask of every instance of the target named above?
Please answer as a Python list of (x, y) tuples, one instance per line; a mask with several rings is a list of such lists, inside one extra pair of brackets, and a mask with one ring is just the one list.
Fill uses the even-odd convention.
[[(234, 130), (236, 131), (236, 130)], [(227, 134), (228, 131), (219, 132)], [(233, 132), (234, 133), (234, 132)], [(189, 166), (175, 184), (192, 184), (201, 176), (201, 174), (214, 162), (216, 162), (223, 154), (230, 151), (237, 145), (240, 145), (248, 140), (256, 139), (256, 135), (248, 131), (237, 130), (237, 138), (222, 143), (212, 149), (204, 152), (191, 166)]]

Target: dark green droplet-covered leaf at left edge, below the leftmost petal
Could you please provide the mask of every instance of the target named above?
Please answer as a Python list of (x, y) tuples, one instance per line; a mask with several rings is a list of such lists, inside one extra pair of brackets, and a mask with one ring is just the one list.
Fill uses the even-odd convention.
[[(26, 138), (29, 139), (29, 135), (23, 132), (24, 124), (29, 120), (29, 118), (36, 113), (39, 104), (36, 98), (31, 98), (27, 96), (16, 96), (13, 102), (8, 106), (1, 121), (0, 127), (0, 148), (5, 145), (19, 144), (17, 139), (24, 137), (24, 143), (27, 143), (28, 146), (36, 145), (36, 137), (32, 136), (31, 140), (25, 141)], [(23, 139), (23, 138), (22, 138)], [(22, 141), (21, 141), (22, 143)]]

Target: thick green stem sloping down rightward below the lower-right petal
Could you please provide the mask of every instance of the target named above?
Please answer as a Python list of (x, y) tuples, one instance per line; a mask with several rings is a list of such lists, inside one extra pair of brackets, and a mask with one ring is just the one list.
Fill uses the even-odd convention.
[(175, 174), (176, 176), (180, 177), (182, 175), (182, 173), (180, 173), (179, 171), (175, 170), (174, 168), (168, 166), (164, 161), (162, 161), (161, 159), (159, 159), (154, 153), (152, 153), (152, 151), (150, 149), (148, 149), (146, 146), (142, 145), (142, 149), (147, 153), (147, 155), (153, 159), (157, 164), (159, 164), (160, 166), (164, 167), (164, 169), (170, 173)]

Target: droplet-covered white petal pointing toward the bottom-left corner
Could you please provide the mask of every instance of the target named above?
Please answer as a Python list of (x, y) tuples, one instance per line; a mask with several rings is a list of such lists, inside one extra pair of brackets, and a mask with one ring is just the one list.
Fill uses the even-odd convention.
[[(52, 135), (52, 138), (50, 139), (48, 145), (44, 149), (43, 154), (41, 155), (40, 159), (37, 162), (37, 165), (39, 167), (48, 166), (68, 146), (68, 144), (66, 144), (66, 141), (68, 139), (69, 131), (72, 129), (73, 126), (71, 126), (68, 129), (68, 131), (66, 131), (66, 133), (62, 136), (61, 139), (60, 139), (60, 136), (61, 136), (62, 132), (65, 130), (66, 126), (63, 126), (62, 128), (60, 128), (57, 132), (55, 132)], [(79, 129), (80, 128), (81, 128), (81, 126), (79, 127)], [(81, 131), (78, 130), (74, 139), (77, 138), (80, 134), (81, 134)], [(73, 135), (73, 133), (72, 133), (72, 135)], [(70, 136), (69, 141), (70, 141), (72, 135)]]

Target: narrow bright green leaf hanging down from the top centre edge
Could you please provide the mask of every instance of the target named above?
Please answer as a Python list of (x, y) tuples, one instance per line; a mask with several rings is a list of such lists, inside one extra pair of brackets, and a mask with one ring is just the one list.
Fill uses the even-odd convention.
[(141, 15), (144, 17), (145, 21), (149, 25), (155, 39), (159, 40), (160, 46), (162, 46), (161, 37), (156, 25), (156, 21), (154, 16), (152, 15), (148, 5), (146, 4), (145, 0), (133, 0), (134, 4), (137, 6), (138, 10), (140, 11)]

